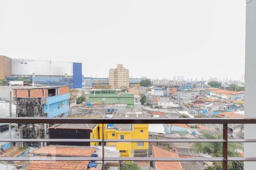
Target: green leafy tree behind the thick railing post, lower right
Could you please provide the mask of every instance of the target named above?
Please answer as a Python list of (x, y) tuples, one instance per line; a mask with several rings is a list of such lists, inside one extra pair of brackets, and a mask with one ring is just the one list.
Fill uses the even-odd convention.
[[(222, 138), (222, 135), (211, 135), (209, 133), (204, 133), (204, 137), (207, 139), (220, 139)], [(201, 152), (203, 154), (208, 154), (212, 157), (222, 157), (222, 143), (217, 142), (202, 142), (202, 143), (195, 143), (191, 146), (191, 149)], [(228, 156), (231, 157), (238, 157), (240, 156), (240, 153), (238, 152), (239, 149), (242, 149), (241, 145), (235, 144), (235, 143), (229, 143), (228, 145)], [(221, 162), (214, 162), (213, 167), (215, 170), (221, 170), (222, 169), (222, 163)], [(228, 169), (229, 170), (236, 170), (237, 167), (243, 167), (242, 162), (228, 162)], [(209, 169), (212, 169), (209, 167)]]

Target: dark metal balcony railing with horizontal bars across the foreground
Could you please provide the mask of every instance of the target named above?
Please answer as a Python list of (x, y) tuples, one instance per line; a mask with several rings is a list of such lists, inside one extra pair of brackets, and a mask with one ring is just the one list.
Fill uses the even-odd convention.
[[(219, 142), (222, 143), (222, 157), (219, 158), (150, 158), (150, 157), (105, 157), (102, 145), (102, 157), (56, 157), (55, 159), (37, 157), (0, 157), (0, 161), (161, 161), (161, 162), (222, 162), (226, 170), (228, 161), (253, 162), (256, 158), (228, 157), (228, 143), (256, 142), (256, 139), (228, 139), (228, 124), (256, 124), (256, 118), (0, 118), (0, 123), (11, 124), (222, 124), (222, 139), (0, 139), (0, 142)], [(102, 166), (104, 169), (104, 166)]]

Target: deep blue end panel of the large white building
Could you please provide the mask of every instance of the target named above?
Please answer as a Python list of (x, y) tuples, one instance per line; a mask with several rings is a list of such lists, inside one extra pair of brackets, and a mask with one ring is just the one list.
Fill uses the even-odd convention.
[(82, 63), (73, 62), (73, 88), (82, 88)]

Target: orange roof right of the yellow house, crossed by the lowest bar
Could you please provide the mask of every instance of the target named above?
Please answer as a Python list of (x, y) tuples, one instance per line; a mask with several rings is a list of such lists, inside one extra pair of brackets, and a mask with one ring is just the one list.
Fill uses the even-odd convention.
[[(179, 155), (153, 146), (154, 158), (179, 158)], [(180, 162), (155, 162), (156, 169), (159, 170), (182, 170)]]

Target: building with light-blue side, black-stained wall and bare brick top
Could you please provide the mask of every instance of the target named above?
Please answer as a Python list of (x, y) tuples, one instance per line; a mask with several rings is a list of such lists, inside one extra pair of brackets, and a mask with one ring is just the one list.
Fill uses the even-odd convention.
[(14, 90), (18, 117), (65, 117), (69, 111), (69, 88), (29, 87)]

